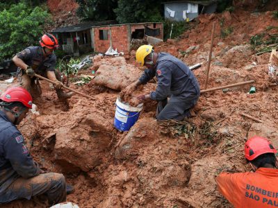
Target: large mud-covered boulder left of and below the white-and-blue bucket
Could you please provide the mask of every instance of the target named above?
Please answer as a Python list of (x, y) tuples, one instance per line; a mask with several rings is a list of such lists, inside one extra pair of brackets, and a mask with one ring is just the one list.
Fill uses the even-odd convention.
[(82, 171), (90, 171), (101, 164), (101, 155), (111, 142), (112, 128), (95, 114), (89, 114), (74, 128), (59, 128), (54, 147), (56, 160), (62, 166), (72, 165)]

